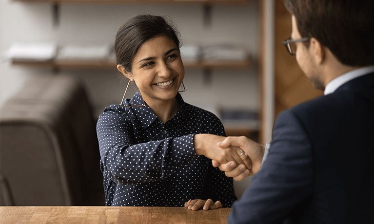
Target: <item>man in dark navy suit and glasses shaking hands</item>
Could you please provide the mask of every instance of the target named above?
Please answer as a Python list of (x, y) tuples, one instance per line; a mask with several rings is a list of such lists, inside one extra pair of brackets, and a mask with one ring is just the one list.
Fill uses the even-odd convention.
[[(258, 171), (228, 223), (374, 223), (374, 2), (285, 6), (292, 36), (284, 44), (295, 43), (289, 52), (324, 96), (279, 114), (262, 167), (264, 147), (245, 137), (221, 143), (244, 150)], [(233, 164), (219, 168), (245, 178)]]

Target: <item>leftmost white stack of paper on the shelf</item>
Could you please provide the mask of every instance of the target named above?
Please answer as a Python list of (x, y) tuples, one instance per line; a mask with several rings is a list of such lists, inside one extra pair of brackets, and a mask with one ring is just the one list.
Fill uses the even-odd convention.
[(14, 43), (7, 51), (7, 57), (14, 61), (48, 61), (57, 53), (53, 43)]

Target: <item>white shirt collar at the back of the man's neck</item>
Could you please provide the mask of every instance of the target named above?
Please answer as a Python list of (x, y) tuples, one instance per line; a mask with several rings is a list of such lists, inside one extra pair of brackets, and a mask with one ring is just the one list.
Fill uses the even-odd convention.
[(362, 75), (366, 75), (369, 73), (374, 72), (374, 66), (367, 66), (359, 69), (355, 69), (351, 72), (345, 73), (343, 75), (339, 75), (329, 83), (327, 83), (324, 94), (334, 93), (337, 88), (339, 88), (344, 83), (351, 81), (354, 78), (360, 77)]

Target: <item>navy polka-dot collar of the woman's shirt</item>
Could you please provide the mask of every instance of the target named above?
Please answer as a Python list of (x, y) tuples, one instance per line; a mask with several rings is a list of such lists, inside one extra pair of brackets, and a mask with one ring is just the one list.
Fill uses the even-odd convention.
[[(181, 117), (183, 117), (183, 113), (186, 108), (186, 103), (183, 101), (182, 96), (179, 93), (177, 93), (176, 97), (180, 105), (179, 110), (176, 113), (176, 115), (174, 115), (165, 124), (168, 124), (169, 122), (173, 122), (174, 120), (178, 120)], [(155, 112), (152, 111), (152, 109), (148, 106), (148, 104), (146, 102), (144, 102), (144, 104), (145, 104), (144, 107), (130, 107), (129, 108), (130, 110), (134, 112), (143, 130), (149, 127), (156, 120), (162, 123), (162, 121), (158, 119)], [(130, 106), (143, 105), (143, 100), (140, 96), (139, 91), (137, 91), (137, 93), (135, 93), (134, 96), (128, 101), (128, 105)]]

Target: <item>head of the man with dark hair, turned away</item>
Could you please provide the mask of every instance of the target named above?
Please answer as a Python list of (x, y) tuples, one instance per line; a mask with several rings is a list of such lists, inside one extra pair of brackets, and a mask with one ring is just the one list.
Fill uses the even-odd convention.
[(292, 38), (310, 38), (296, 43), (296, 60), (316, 88), (324, 88), (331, 68), (374, 65), (373, 0), (285, 0), (285, 6)]

